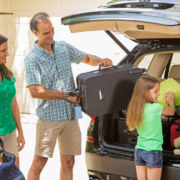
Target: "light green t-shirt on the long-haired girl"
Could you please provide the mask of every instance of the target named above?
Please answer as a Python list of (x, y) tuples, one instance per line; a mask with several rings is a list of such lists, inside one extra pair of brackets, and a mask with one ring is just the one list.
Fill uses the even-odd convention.
[(146, 103), (143, 110), (143, 126), (138, 131), (136, 149), (145, 151), (162, 151), (163, 134), (161, 113), (163, 106), (157, 103)]

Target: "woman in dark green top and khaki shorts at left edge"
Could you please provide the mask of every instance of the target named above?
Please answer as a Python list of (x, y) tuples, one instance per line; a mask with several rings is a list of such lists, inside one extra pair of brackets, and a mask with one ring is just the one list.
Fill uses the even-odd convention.
[[(19, 108), (16, 101), (16, 82), (12, 72), (7, 68), (8, 44), (7, 38), (0, 35), (0, 137), (7, 152), (16, 156), (19, 167), (19, 153), (24, 147), (24, 135), (20, 122)], [(16, 136), (16, 128), (18, 137)], [(0, 164), (2, 154), (0, 156)]]

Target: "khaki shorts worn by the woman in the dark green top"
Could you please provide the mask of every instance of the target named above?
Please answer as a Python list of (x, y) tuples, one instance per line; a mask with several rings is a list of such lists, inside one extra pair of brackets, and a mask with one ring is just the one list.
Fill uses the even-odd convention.
[[(14, 154), (16, 157), (19, 157), (16, 130), (8, 135), (0, 135), (0, 137), (4, 142), (5, 151)], [(0, 157), (2, 157), (2, 153), (0, 154)]]

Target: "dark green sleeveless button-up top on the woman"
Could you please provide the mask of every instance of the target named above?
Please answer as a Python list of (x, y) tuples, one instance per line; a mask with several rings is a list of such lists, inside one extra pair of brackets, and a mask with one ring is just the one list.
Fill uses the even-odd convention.
[(0, 71), (3, 76), (3, 82), (0, 81), (0, 135), (8, 135), (16, 129), (11, 111), (12, 100), (16, 94), (14, 86), (16, 79), (12, 78), (11, 81), (6, 79), (1, 65)]

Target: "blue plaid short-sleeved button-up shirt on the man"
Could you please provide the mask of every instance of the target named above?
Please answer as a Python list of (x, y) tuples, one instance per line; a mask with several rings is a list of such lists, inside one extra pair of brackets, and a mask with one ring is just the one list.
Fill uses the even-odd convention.
[[(54, 54), (50, 54), (40, 48), (37, 41), (34, 43), (24, 60), (26, 85), (38, 84), (55, 91), (74, 91), (71, 63), (80, 63), (85, 53), (64, 41), (54, 41), (53, 47)], [(66, 99), (38, 99), (36, 114), (42, 119), (68, 120), (75, 116), (74, 107), (75, 103)]]

